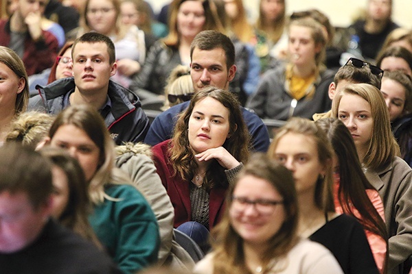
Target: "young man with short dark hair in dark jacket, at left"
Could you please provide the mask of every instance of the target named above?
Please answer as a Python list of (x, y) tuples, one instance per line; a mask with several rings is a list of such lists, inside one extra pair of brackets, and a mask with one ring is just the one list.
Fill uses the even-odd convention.
[(117, 145), (143, 141), (149, 120), (139, 97), (110, 79), (117, 70), (112, 40), (88, 32), (73, 43), (71, 56), (74, 77), (39, 87), (40, 95), (30, 99), (29, 109), (58, 114), (69, 105), (87, 103), (100, 111)]

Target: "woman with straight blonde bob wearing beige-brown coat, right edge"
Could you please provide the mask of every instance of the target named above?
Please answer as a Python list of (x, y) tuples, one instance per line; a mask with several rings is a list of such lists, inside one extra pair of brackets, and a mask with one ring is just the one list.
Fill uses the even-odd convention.
[(412, 170), (397, 156), (385, 99), (374, 86), (349, 84), (334, 97), (332, 116), (349, 129), (365, 175), (383, 199), (388, 273), (402, 273), (402, 263), (412, 253)]

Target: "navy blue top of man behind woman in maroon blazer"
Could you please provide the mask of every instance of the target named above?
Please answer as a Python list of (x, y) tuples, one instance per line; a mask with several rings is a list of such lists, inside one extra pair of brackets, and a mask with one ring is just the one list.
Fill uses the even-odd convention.
[[(172, 108), (165, 110), (156, 117), (144, 142), (146, 144), (154, 146), (172, 138), (174, 124), (176, 123), (178, 116), (183, 110), (189, 106), (190, 101), (179, 103)], [(247, 129), (251, 134), (252, 145), (254, 151), (266, 152), (270, 145), (268, 129), (258, 115), (250, 112), (246, 108), (242, 108), (242, 114), (244, 123), (247, 125)]]

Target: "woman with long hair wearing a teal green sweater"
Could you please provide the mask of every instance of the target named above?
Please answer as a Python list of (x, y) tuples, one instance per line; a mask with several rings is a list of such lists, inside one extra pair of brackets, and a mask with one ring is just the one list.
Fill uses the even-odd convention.
[(89, 222), (119, 269), (131, 274), (155, 264), (155, 215), (130, 177), (115, 168), (114, 142), (99, 112), (89, 105), (63, 110), (50, 128), (48, 142), (69, 151), (82, 166), (93, 203)]

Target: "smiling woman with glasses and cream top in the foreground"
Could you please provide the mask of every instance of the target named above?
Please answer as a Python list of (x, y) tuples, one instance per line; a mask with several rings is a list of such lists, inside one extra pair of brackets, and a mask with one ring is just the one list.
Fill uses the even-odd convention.
[(229, 189), (213, 252), (194, 273), (343, 273), (328, 249), (298, 236), (297, 201), (290, 171), (253, 155)]

